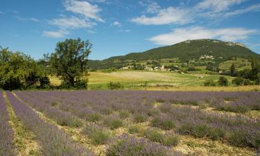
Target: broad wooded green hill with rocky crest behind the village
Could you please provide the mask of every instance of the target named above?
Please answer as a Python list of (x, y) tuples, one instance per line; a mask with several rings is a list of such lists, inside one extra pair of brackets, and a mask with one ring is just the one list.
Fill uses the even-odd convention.
[(220, 40), (187, 40), (171, 46), (163, 46), (150, 49), (142, 53), (129, 53), (123, 56), (114, 56), (105, 60), (90, 60), (89, 66), (94, 67), (120, 67), (124, 62), (141, 60), (161, 60), (166, 58), (178, 58), (180, 62), (189, 60), (200, 60), (202, 55), (212, 56), (215, 62), (224, 62), (236, 58), (260, 58), (243, 44), (233, 42), (222, 42)]

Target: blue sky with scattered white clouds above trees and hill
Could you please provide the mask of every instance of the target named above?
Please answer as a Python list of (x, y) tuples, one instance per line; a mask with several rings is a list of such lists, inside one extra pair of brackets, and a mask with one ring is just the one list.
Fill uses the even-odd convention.
[(260, 1), (0, 1), (0, 46), (38, 59), (77, 37), (92, 42), (89, 58), (98, 60), (201, 38), (260, 53)]

